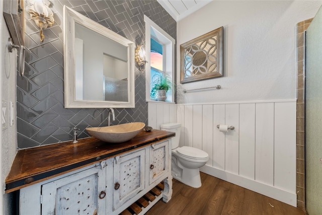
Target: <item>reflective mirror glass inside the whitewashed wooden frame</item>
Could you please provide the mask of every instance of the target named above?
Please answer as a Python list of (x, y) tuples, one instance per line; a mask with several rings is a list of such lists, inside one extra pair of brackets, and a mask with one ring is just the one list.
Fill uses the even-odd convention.
[(126, 46), (75, 23), (76, 100), (127, 102), (127, 68)]

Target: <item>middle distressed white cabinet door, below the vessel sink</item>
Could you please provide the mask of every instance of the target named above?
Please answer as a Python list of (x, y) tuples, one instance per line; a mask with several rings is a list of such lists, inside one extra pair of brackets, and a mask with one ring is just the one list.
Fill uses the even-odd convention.
[(145, 149), (114, 159), (113, 210), (144, 189)]

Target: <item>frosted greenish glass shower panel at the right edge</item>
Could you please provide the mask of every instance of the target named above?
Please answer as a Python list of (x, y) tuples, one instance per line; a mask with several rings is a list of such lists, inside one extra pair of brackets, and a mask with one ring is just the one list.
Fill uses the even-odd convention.
[(322, 211), (322, 9), (306, 31), (305, 195), (308, 214)]

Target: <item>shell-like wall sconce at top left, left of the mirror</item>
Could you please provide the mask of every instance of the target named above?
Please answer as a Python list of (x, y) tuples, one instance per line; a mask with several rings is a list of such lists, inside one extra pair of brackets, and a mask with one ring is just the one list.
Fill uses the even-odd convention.
[(26, 11), (30, 14), (36, 25), (40, 28), (40, 41), (43, 42), (45, 36), (42, 30), (54, 24), (54, 15), (49, 9), (50, 2), (48, 0), (28, 0)]

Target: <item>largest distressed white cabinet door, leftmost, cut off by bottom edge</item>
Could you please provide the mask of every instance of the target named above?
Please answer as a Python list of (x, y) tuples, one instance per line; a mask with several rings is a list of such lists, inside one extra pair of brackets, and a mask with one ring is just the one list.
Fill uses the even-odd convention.
[(42, 214), (104, 214), (105, 171), (100, 166), (42, 185)]

